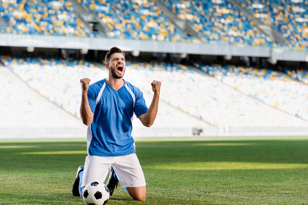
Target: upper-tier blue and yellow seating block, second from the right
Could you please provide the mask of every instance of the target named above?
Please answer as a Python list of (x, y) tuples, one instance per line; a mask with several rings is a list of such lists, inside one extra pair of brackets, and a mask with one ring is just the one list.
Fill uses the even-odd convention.
[(254, 27), (228, 0), (164, 0), (180, 19), (187, 19), (209, 43), (244, 44), (272, 47), (273, 42)]

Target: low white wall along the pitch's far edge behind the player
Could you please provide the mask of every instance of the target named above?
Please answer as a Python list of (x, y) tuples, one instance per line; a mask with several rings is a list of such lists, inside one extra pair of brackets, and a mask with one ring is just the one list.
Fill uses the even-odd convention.
[[(0, 139), (86, 138), (84, 128), (0, 128)], [(192, 128), (136, 128), (134, 137), (248, 137), (308, 136), (308, 128), (294, 127), (207, 127), (199, 135)]]

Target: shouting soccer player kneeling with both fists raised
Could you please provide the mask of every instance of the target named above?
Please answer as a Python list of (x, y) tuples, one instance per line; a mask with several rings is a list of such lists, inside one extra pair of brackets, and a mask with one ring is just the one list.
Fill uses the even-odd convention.
[(151, 83), (154, 93), (149, 108), (142, 92), (123, 79), (125, 53), (117, 47), (105, 56), (108, 77), (89, 86), (90, 79), (80, 80), (82, 100), (80, 114), (88, 126), (85, 165), (80, 166), (72, 186), (74, 196), (82, 196), (83, 188), (93, 181), (104, 181), (112, 195), (118, 182), (134, 200), (146, 199), (146, 183), (135, 153), (131, 136), (133, 113), (150, 127), (158, 111), (161, 82)]

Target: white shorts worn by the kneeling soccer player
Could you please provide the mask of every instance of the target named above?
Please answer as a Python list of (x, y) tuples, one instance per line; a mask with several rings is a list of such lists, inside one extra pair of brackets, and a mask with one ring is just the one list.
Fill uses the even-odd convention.
[(81, 187), (98, 181), (104, 183), (109, 168), (113, 167), (122, 189), (146, 186), (142, 168), (136, 154), (117, 157), (87, 156)]

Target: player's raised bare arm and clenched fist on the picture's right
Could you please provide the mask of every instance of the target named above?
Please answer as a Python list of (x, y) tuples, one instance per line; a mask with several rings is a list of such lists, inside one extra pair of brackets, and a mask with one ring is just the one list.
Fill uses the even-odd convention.
[(138, 117), (142, 124), (146, 127), (151, 127), (156, 118), (161, 84), (162, 83), (160, 81), (153, 80), (153, 82), (151, 83), (152, 91), (154, 92), (152, 103), (148, 111)]

